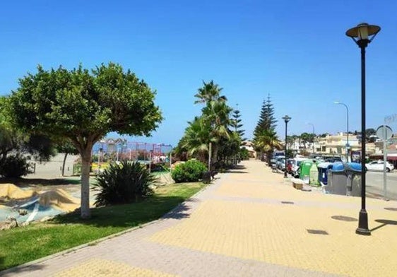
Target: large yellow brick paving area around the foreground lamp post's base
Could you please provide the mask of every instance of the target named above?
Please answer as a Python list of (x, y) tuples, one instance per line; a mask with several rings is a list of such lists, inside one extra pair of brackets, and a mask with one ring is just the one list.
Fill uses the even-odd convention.
[[(396, 276), (397, 212), (384, 210), (397, 206), (395, 202), (369, 199), (369, 228), (375, 230), (372, 236), (360, 236), (355, 234), (357, 221), (331, 218), (357, 218), (360, 198), (297, 191), (282, 184), (283, 178), (264, 169), (263, 163), (245, 165), (251, 174), (223, 177), (223, 184), (214, 194), (225, 199), (203, 201), (189, 218), (148, 240), (325, 273)], [(251, 201), (254, 199), (301, 204)], [(322, 230), (328, 235), (309, 234), (307, 230)]]

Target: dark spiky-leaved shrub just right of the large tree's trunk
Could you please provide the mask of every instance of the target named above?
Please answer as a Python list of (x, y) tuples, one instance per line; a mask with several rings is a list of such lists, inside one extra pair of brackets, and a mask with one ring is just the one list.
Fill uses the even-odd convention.
[(96, 180), (93, 190), (99, 192), (95, 206), (108, 206), (133, 203), (142, 196), (152, 194), (149, 186), (154, 184), (156, 179), (150, 175), (146, 166), (123, 161), (120, 165), (110, 164)]

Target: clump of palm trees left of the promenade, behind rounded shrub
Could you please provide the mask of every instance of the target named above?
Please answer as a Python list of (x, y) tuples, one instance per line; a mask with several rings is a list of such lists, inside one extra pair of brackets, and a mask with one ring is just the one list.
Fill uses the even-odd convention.
[(203, 105), (203, 108), (200, 116), (188, 122), (184, 136), (175, 149), (179, 158), (197, 158), (207, 163), (211, 157), (211, 165), (215, 165), (225, 163), (239, 153), (242, 138), (237, 130), (231, 128), (233, 109), (227, 105), (225, 95), (220, 94), (222, 90), (213, 81), (203, 82), (194, 95), (194, 103)]

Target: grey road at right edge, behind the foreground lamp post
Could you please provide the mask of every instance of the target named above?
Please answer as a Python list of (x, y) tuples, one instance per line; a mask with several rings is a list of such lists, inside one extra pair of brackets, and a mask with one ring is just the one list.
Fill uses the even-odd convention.
[[(389, 172), (387, 176), (387, 198), (397, 200), (397, 171)], [(383, 172), (367, 172), (367, 194), (369, 196), (383, 198), (384, 184)]]

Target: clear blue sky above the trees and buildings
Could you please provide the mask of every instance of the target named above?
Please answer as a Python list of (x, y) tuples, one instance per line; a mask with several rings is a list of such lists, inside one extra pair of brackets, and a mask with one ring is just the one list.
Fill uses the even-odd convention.
[[(367, 127), (397, 112), (396, 1), (5, 1), (0, 11), (0, 93), (18, 78), (59, 65), (114, 61), (157, 90), (165, 117), (151, 138), (176, 145), (200, 113), (202, 81), (223, 87), (251, 137), (268, 93), (289, 134), (360, 126), (360, 49), (345, 36), (367, 22), (381, 32), (367, 48)], [(390, 125), (393, 131), (397, 122)], [(277, 131), (283, 138), (284, 123)]]

